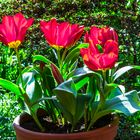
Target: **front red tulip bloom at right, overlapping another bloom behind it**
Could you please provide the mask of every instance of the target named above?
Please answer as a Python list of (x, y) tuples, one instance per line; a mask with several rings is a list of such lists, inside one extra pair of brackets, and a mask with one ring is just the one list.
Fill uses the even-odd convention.
[(118, 59), (118, 43), (114, 40), (106, 41), (103, 52), (100, 53), (98, 48), (89, 42), (88, 48), (82, 48), (80, 53), (84, 63), (91, 70), (106, 70), (112, 68)]

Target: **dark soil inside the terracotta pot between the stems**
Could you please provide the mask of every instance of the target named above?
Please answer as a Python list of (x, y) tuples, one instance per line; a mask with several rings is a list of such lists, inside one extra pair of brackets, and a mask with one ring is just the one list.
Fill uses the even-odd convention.
[[(38, 112), (38, 118), (39, 121), (41, 122), (42, 126), (45, 128), (44, 133), (59, 133), (59, 134), (64, 134), (64, 133), (69, 133), (71, 130), (71, 125), (70, 124), (65, 124), (65, 125), (60, 125), (53, 123), (49, 117), (47, 117), (47, 114), (45, 112), (42, 113), (42, 111)], [(28, 116), (28, 117), (27, 117)], [(24, 122), (20, 122), (20, 126), (31, 131), (35, 132), (41, 132), (34, 120), (31, 118), (31, 116), (27, 115), (26, 116), (26, 121), (24, 118)], [(110, 124), (113, 121), (114, 116), (111, 114), (108, 114), (102, 118), (100, 118), (94, 126), (91, 128), (92, 130), (101, 128), (103, 126), (106, 126)], [(83, 123), (84, 120), (81, 119), (80, 123), (77, 125), (77, 128), (75, 129), (74, 133), (76, 132), (83, 132), (84, 131), (84, 126)]]

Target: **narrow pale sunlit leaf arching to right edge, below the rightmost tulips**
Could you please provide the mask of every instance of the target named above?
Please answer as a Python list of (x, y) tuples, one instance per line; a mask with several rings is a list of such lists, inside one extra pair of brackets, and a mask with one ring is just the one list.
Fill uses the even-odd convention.
[(122, 76), (124, 73), (128, 72), (131, 69), (140, 70), (140, 66), (125, 66), (120, 68), (113, 74), (113, 81), (115, 81), (116, 79), (118, 79), (120, 76)]

